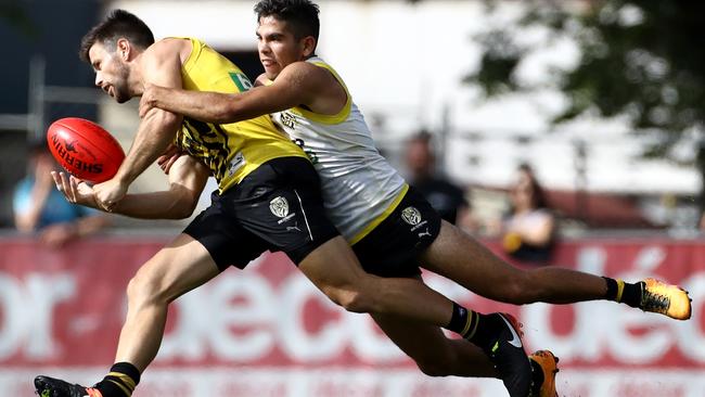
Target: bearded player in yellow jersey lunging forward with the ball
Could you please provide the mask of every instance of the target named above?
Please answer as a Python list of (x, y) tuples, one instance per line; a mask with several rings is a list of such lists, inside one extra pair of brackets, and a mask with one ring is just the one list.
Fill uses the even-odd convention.
[[(150, 28), (121, 10), (84, 37), (80, 54), (93, 67), (95, 85), (118, 103), (141, 95), (148, 84), (231, 93), (251, 86), (236, 66), (198, 40), (154, 42)], [(52, 174), (70, 202), (148, 219), (190, 216), (210, 175), (219, 190), (213, 205), (130, 281), (127, 318), (107, 375), (92, 387), (37, 376), (40, 396), (129, 397), (158, 351), (169, 303), (229, 266), (244, 268), (267, 249), (284, 252), (313, 284), (350, 311), (448, 324), (452, 308), (459, 307), (451, 300), (418, 280), (363, 271), (325, 217), (311, 162), (269, 116), (257, 117), (259, 113), (253, 110), (244, 120), (217, 125), (154, 108), (142, 118), (113, 179), (89, 187), (63, 172)], [(171, 144), (189, 155), (170, 165), (168, 189), (127, 194), (134, 178)], [(493, 374), (491, 367), (487, 372)]]

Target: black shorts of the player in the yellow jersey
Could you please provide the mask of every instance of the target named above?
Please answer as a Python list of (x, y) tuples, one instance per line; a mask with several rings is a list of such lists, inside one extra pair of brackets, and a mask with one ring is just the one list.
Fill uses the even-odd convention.
[(284, 252), (299, 264), (339, 235), (325, 217), (320, 181), (304, 157), (271, 159), (239, 184), (211, 194), (211, 205), (184, 229), (221, 270), (244, 268), (262, 252)]

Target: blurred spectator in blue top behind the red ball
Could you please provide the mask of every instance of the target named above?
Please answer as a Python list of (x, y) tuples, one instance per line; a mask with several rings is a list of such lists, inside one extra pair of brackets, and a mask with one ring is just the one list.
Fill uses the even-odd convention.
[(27, 176), (15, 187), (13, 210), (18, 231), (36, 232), (42, 243), (60, 247), (103, 229), (110, 220), (101, 212), (68, 203), (55, 189), (50, 174), (55, 169), (46, 143), (31, 144)]

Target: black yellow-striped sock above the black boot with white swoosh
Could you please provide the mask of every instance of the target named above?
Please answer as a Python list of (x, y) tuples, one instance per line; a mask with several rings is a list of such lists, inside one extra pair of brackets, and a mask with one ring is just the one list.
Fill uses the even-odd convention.
[(453, 313), (446, 329), (459, 333), (483, 349), (489, 349), (493, 336), (497, 335), (497, 330), (503, 325), (497, 321), (501, 320), (492, 315), (483, 315), (465, 309), (453, 302)]

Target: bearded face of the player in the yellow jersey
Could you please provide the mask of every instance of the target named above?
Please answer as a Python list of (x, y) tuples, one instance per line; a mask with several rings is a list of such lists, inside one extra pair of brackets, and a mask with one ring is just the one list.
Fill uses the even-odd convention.
[(93, 71), (95, 86), (113, 97), (117, 103), (124, 103), (132, 97), (128, 89), (129, 67), (123, 62), (117, 51), (110, 52), (97, 42), (88, 51)]

